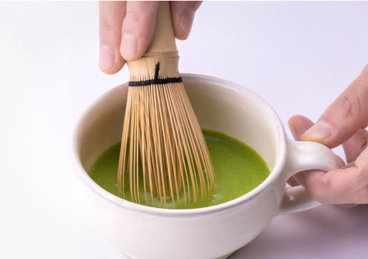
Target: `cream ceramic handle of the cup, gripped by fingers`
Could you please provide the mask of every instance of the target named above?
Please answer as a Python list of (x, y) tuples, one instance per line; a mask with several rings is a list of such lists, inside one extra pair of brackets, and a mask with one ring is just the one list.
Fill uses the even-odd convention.
[[(317, 169), (328, 172), (340, 167), (340, 159), (331, 149), (316, 142), (288, 140), (288, 158), (283, 173), (290, 178), (297, 172)], [(285, 187), (279, 214), (312, 209), (320, 205), (301, 185)]]

